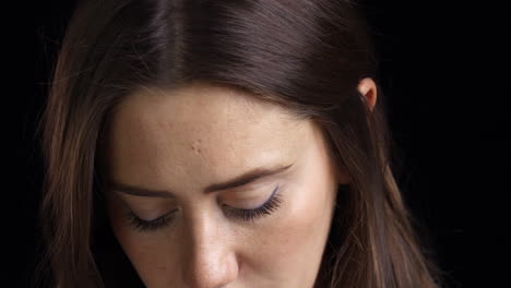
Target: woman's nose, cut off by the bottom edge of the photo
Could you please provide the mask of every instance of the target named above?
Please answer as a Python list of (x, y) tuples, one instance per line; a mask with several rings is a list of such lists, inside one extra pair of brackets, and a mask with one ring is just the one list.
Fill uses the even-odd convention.
[(238, 278), (239, 263), (226, 231), (211, 219), (195, 219), (182, 265), (187, 287), (221, 288)]

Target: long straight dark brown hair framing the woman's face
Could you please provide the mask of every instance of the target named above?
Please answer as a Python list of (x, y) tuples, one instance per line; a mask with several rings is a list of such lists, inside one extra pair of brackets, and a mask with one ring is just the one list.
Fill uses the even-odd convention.
[[(338, 190), (317, 287), (437, 287), (391, 169), (384, 97), (368, 27), (348, 0), (79, 2), (40, 121), (41, 266), (54, 285), (103, 287), (94, 250), (104, 215), (99, 143), (111, 111), (141, 86), (224, 85), (313, 119), (350, 176)], [(378, 83), (378, 81), (377, 81)]]

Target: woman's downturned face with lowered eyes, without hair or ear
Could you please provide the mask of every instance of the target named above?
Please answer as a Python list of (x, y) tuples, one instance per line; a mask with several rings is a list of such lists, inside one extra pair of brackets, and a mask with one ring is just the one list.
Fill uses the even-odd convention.
[(311, 120), (223, 87), (140, 91), (106, 143), (110, 223), (147, 287), (313, 286), (347, 181)]

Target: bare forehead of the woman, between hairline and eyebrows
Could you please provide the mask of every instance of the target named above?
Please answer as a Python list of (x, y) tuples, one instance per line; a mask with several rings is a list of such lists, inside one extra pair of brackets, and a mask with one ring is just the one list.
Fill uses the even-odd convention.
[(225, 87), (141, 89), (112, 116), (107, 160), (118, 180), (212, 181), (293, 161), (310, 130), (283, 107)]

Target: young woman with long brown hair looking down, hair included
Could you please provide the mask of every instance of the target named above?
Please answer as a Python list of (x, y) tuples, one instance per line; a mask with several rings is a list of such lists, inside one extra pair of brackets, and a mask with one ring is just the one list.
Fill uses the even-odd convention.
[(437, 287), (371, 50), (353, 1), (79, 3), (40, 122), (52, 285)]

